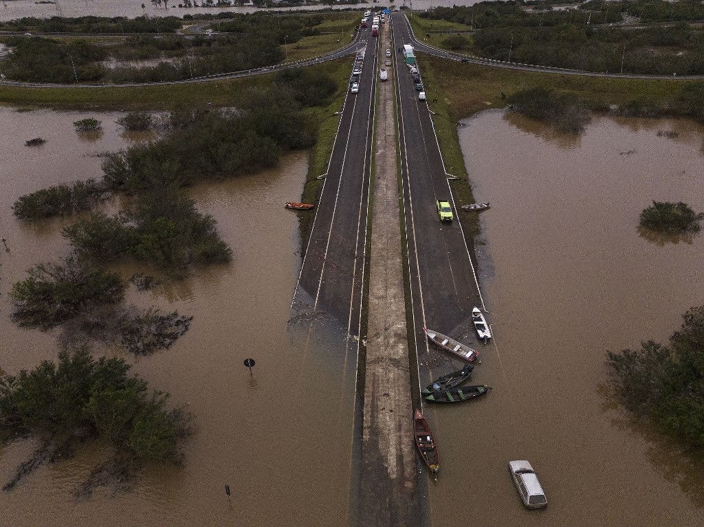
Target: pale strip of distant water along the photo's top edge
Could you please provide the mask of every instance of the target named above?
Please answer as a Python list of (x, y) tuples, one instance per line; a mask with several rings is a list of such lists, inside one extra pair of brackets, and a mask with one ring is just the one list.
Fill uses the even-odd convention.
[[(471, 6), (476, 4), (479, 0), (465, 0), (465, 1), (453, 1), (453, 0), (415, 0), (413, 3), (414, 10), (423, 10), (427, 8), (432, 8), (436, 6), (453, 6), (453, 4), (458, 6)], [(52, 16), (67, 16), (67, 17), (77, 17), (77, 16), (126, 16), (127, 18), (134, 18), (137, 16), (148, 15), (150, 17), (158, 16), (177, 16), (182, 17), (183, 15), (196, 15), (196, 14), (211, 14), (213, 17), (218, 13), (223, 11), (230, 11), (232, 13), (251, 13), (253, 11), (260, 11), (254, 6), (243, 6), (243, 7), (202, 7), (202, 2), (196, 1), (199, 7), (194, 8), (184, 8), (179, 6), (179, 2), (174, 0), (168, 2), (168, 8), (164, 7), (162, 2), (161, 6), (152, 4), (151, 1), (147, 0), (55, 0), (51, 4), (37, 4), (35, 0), (5, 0), (3, 1), (3, 6), (0, 8), (0, 20), (14, 20), (15, 18), (23, 18), (25, 16), (36, 17), (36, 18), (51, 18)], [(372, 8), (374, 5), (372, 2), (361, 2), (358, 4), (358, 8)], [(399, 3), (398, 6), (405, 4)], [(408, 4), (410, 5), (410, 4)], [(144, 7), (142, 7), (144, 6)], [(344, 5), (341, 8), (346, 9), (350, 6)], [(328, 4), (318, 5), (318, 6), (305, 6), (306, 10), (310, 9), (321, 9), (329, 11), (331, 6)], [(278, 8), (276, 11), (291, 11), (299, 10), (300, 8)]]

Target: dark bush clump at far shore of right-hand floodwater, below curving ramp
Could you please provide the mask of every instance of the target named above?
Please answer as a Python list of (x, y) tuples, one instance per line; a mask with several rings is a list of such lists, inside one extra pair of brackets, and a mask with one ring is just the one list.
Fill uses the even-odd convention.
[(517, 91), (509, 99), (513, 110), (553, 125), (560, 132), (579, 134), (591, 120), (586, 105), (572, 94), (556, 94), (546, 88)]

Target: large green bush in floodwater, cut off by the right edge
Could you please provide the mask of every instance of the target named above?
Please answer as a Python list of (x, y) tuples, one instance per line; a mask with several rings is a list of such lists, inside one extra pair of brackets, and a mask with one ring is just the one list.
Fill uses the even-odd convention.
[(627, 409), (686, 447), (704, 447), (704, 307), (684, 314), (669, 345), (648, 341), (639, 350), (609, 352), (607, 360)]

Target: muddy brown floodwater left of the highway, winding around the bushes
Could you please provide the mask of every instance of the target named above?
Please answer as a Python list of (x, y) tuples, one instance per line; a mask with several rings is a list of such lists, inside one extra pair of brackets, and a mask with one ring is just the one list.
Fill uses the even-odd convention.
[[(10, 206), (50, 184), (99, 177), (101, 159), (91, 154), (130, 144), (116, 113), (96, 115), (104, 128), (99, 138), (87, 141), (73, 131), (73, 121), (94, 115), (0, 109), (0, 231), (11, 248), (0, 252), (0, 367), (7, 372), (56, 357), (54, 334), (11, 323), (7, 293), (25, 269), (68, 252), (61, 226), (71, 221), (28, 226), (15, 221)], [(44, 146), (24, 145), (37, 135)], [(151, 388), (169, 391), (170, 403), (192, 414), (184, 466), (148, 466), (127, 493), (113, 497), (99, 488), (77, 501), (77, 485), (107, 455), (87, 445), (73, 459), (26, 476), (11, 493), (0, 491), (2, 525), (346, 523), (355, 364), (340, 351), (337, 329), (318, 327), (308, 338), (306, 324), (287, 324), (300, 241), (296, 212), (282, 205), (301, 195), (306, 171), (306, 155), (294, 153), (277, 170), (191, 189), (232, 246), (232, 263), (197, 269), (151, 292), (130, 291), (133, 303), (194, 316), (172, 348), (137, 360), (102, 350), (134, 364)], [(246, 357), (256, 360), (253, 376), (242, 364)], [(0, 449), (1, 483), (33, 447), (24, 440)]]

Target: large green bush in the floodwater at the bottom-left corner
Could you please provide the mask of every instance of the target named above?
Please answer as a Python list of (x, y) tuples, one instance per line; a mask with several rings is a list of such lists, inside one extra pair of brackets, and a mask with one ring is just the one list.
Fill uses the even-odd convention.
[[(113, 469), (128, 476), (142, 462), (179, 463), (179, 440), (187, 433), (187, 415), (167, 408), (168, 394), (150, 391), (139, 377), (128, 376), (122, 359), (94, 360), (85, 348), (43, 361), (18, 375), (0, 377), (0, 434), (4, 441), (34, 436), (40, 447), (4, 485), (46, 460), (65, 457), (88, 438), (111, 445)], [(118, 474), (115, 474), (118, 475)]]

